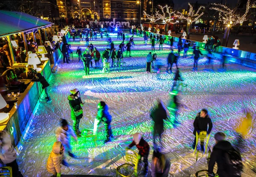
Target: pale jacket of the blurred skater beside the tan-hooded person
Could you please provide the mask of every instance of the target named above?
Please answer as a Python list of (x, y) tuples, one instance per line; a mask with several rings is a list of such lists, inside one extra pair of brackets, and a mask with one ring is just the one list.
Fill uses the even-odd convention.
[(70, 125), (68, 125), (67, 131), (64, 130), (61, 126), (59, 126), (56, 129), (55, 134), (56, 134), (57, 141), (60, 141), (62, 144), (65, 144), (65, 145), (70, 145), (71, 136), (73, 136), (75, 139), (77, 138), (74, 130)]

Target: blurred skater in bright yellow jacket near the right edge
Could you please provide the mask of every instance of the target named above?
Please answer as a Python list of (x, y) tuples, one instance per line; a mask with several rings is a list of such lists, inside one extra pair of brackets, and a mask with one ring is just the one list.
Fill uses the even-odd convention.
[(247, 137), (251, 127), (252, 127), (252, 114), (250, 112), (246, 112), (246, 115), (241, 117), (239, 126), (235, 129), (236, 130), (235, 147), (240, 152), (244, 152), (244, 147), (245, 147), (244, 138)]

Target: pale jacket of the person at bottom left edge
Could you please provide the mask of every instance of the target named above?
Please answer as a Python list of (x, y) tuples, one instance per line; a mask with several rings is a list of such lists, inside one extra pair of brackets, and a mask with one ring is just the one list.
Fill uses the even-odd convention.
[(12, 146), (10, 135), (6, 131), (0, 132), (0, 160), (4, 163), (11, 163), (16, 160), (17, 153)]

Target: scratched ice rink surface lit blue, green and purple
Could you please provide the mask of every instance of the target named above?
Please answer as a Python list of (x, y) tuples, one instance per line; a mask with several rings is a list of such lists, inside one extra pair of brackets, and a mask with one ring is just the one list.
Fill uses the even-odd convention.
[[(119, 45), (116, 37), (112, 36), (115, 44)], [(107, 39), (92, 41), (101, 52), (107, 45)], [(70, 42), (76, 51), (84, 42)], [(132, 58), (125, 57), (126, 67), (123, 69), (111, 68), (111, 73), (103, 74), (102, 68), (91, 70), (89, 76), (84, 76), (83, 65), (78, 63), (77, 56), (70, 64), (58, 63), (58, 70), (53, 73), (50, 83), (52, 102), (44, 100), (38, 102), (31, 120), (27, 125), (20, 143), (18, 144), (18, 163), (25, 177), (49, 177), (45, 168), (47, 158), (55, 142), (55, 129), (61, 118), (66, 118), (70, 124), (70, 107), (67, 101), (69, 90), (78, 88), (81, 91), (84, 105), (84, 117), (80, 127), (93, 128), (93, 121), (99, 101), (105, 101), (113, 116), (112, 129), (114, 139), (112, 143), (103, 144), (103, 126), (99, 129), (97, 146), (92, 141), (79, 138), (79, 144), (72, 142), (73, 152), (78, 158), (67, 157), (70, 167), (62, 166), (62, 174), (95, 174), (115, 176), (117, 166), (125, 162), (125, 147), (131, 143), (131, 135), (141, 132), (145, 140), (152, 146), (152, 121), (149, 109), (154, 101), (160, 98), (166, 105), (169, 101), (169, 89), (172, 85), (173, 74), (166, 73), (162, 68), (157, 74), (145, 72), (145, 56), (150, 51), (150, 45), (143, 45), (142, 38), (135, 38), (132, 48)], [(155, 51), (163, 64), (169, 53), (169, 46), (163, 45), (163, 51)], [(175, 49), (176, 51), (176, 49)], [(207, 108), (213, 122), (213, 129), (209, 145), (214, 145), (214, 133), (223, 131), (227, 139), (233, 141), (234, 127), (239, 125), (243, 109), (256, 110), (256, 73), (255, 70), (228, 64), (226, 71), (221, 69), (218, 58), (214, 60), (214, 70), (205, 69), (207, 59), (204, 56), (199, 60), (198, 72), (192, 71), (192, 51), (187, 56), (181, 55), (178, 65), (184, 84), (180, 102), (184, 107), (178, 111), (178, 120), (181, 124), (174, 129), (169, 121), (165, 124), (163, 135), (163, 152), (171, 160), (170, 176), (190, 177), (196, 171), (207, 169), (206, 157), (199, 154), (198, 162), (192, 155), (192, 140), (194, 136), (193, 121), (195, 115), (202, 108)], [(102, 63), (101, 63), (102, 64)], [(41, 98), (44, 98), (41, 95)], [(255, 119), (255, 114), (253, 115)], [(255, 121), (253, 123), (255, 126)], [(250, 129), (247, 137), (247, 147), (244, 149), (243, 177), (252, 177), (256, 174), (252, 169), (256, 166), (255, 156), (255, 129)], [(135, 149), (135, 148), (134, 148)], [(152, 150), (149, 155), (151, 163)], [(151, 166), (151, 165), (150, 165)], [(149, 171), (149, 176), (150, 176)]]

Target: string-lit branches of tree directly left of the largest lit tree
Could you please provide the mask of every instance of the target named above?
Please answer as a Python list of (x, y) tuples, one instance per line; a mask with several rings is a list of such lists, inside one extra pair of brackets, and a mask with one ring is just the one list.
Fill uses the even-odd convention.
[(181, 12), (177, 11), (177, 14), (175, 14), (175, 17), (179, 18), (179, 19), (183, 19), (186, 20), (188, 23), (192, 23), (192, 22), (196, 22), (198, 21), (198, 19), (204, 14), (204, 12), (202, 12), (201, 14), (199, 14), (199, 11), (205, 8), (204, 6), (200, 6), (198, 8), (198, 11), (194, 14), (193, 11), (193, 7), (192, 5), (189, 3), (189, 13), (185, 16), (184, 14), (182, 14)]

